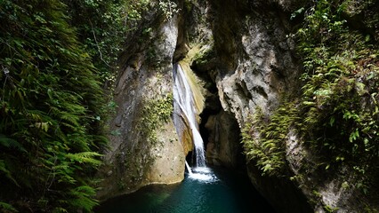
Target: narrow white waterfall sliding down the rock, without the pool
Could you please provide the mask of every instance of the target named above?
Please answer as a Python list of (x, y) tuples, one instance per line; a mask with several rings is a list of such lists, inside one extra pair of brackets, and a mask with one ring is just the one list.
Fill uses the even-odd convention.
[(196, 167), (206, 167), (204, 142), (198, 131), (197, 110), (193, 93), (179, 64), (173, 65), (173, 81), (173, 122), (176, 130), (181, 137), (185, 128), (190, 129), (192, 141), (195, 145)]

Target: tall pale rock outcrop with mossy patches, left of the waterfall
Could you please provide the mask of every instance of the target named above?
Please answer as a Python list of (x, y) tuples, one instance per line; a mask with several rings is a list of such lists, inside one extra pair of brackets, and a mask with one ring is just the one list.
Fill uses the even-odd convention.
[(152, 20), (144, 26), (149, 34), (120, 59), (117, 112), (109, 123), (109, 150), (100, 170), (101, 200), (184, 177), (184, 150), (170, 117), (178, 21), (163, 21), (157, 15)]

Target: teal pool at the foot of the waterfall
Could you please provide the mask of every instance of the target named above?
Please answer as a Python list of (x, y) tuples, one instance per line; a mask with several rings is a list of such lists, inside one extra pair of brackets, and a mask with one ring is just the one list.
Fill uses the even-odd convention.
[(185, 174), (175, 185), (149, 185), (111, 199), (96, 213), (242, 213), (275, 212), (246, 175), (213, 168)]

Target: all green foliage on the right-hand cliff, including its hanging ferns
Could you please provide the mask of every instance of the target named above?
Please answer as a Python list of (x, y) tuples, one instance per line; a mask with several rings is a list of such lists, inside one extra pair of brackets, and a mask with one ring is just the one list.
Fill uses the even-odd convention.
[[(313, 4), (293, 14), (293, 19), (302, 12), (305, 17), (294, 35), (304, 67), (302, 95), (296, 105), (285, 101), (271, 116), (258, 111), (246, 122), (246, 155), (262, 174), (282, 174), (283, 144), (294, 129), (324, 162), (320, 165), (327, 165), (325, 170), (348, 165), (357, 177), (351, 185), (369, 193), (378, 183), (379, 45), (343, 20), (350, 1)], [(371, 3), (355, 4), (370, 13)], [(375, 16), (367, 21), (378, 25)]]

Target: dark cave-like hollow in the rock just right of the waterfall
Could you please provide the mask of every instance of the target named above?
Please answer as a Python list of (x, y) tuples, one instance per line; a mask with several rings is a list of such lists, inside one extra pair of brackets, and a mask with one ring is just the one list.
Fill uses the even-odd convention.
[[(200, 114), (199, 131), (204, 141), (206, 163), (208, 166), (222, 166), (230, 169), (246, 170), (246, 160), (243, 154), (241, 130), (238, 122), (230, 112), (222, 108), (218, 88), (210, 76), (211, 70), (202, 70), (196, 61), (190, 66), (202, 81), (204, 81), (205, 107)], [(192, 153), (186, 158), (193, 163)]]

